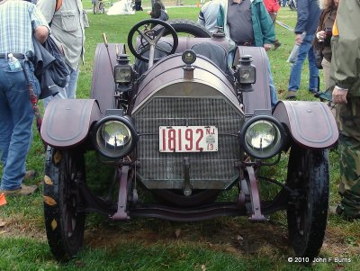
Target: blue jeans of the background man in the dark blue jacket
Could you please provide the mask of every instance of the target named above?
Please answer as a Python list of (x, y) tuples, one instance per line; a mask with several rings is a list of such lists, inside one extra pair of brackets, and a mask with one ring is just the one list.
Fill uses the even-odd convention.
[(299, 48), (298, 57), (293, 63), (292, 71), (290, 73), (288, 90), (297, 91), (300, 88), (302, 79), (302, 64), (308, 57), (309, 60), (309, 90), (315, 90), (319, 84), (319, 69), (315, 66), (315, 56), (312, 50), (313, 34), (306, 35), (302, 40)]

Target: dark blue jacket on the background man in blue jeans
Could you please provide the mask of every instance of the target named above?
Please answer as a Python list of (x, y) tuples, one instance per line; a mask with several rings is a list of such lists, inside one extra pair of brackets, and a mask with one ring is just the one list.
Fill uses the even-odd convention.
[(314, 34), (319, 23), (320, 7), (318, 0), (297, 1), (298, 20), (295, 27), (296, 34)]

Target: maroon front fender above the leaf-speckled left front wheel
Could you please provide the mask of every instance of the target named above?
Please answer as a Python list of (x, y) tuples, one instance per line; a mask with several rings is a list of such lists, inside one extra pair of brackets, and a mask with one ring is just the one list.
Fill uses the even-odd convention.
[(91, 124), (100, 118), (94, 99), (54, 99), (45, 111), (40, 135), (50, 146), (73, 147), (85, 140)]

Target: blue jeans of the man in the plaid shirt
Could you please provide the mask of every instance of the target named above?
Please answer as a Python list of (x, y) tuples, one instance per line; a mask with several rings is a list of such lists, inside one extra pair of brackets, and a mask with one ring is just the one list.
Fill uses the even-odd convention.
[[(23, 61), (35, 94), (39, 95), (40, 86), (32, 64), (20, 61)], [(33, 111), (23, 68), (11, 71), (7, 59), (0, 59), (0, 157), (4, 164), (0, 188), (4, 190), (21, 187), (31, 142)]]

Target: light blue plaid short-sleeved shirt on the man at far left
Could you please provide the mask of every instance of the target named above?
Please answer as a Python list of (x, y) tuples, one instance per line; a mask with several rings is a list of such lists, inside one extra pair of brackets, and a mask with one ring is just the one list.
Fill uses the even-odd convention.
[(23, 0), (0, 2), (0, 53), (33, 51), (32, 32), (48, 23), (35, 5)]

